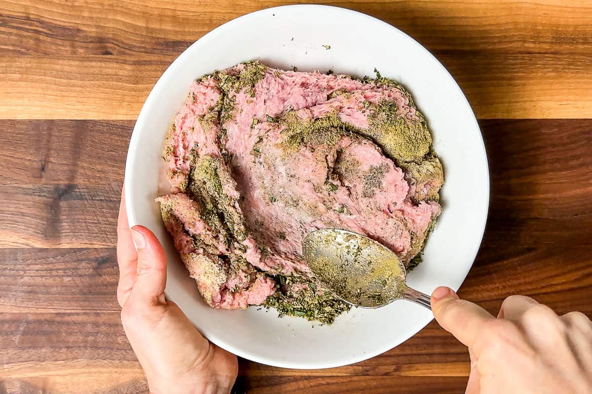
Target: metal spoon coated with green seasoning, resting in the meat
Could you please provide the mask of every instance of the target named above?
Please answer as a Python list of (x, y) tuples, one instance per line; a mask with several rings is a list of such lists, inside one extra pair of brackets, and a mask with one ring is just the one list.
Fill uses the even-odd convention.
[(390, 249), (346, 230), (308, 234), (304, 260), (330, 291), (356, 307), (378, 308), (407, 299), (432, 310), (430, 296), (406, 284), (405, 265)]

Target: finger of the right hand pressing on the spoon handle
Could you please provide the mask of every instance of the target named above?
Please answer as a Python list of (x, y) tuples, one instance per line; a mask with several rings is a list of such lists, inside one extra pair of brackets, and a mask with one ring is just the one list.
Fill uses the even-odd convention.
[(459, 299), (448, 287), (436, 288), (432, 294), (432, 311), (437, 322), (465, 346), (472, 346), (480, 325), (494, 317), (472, 302)]

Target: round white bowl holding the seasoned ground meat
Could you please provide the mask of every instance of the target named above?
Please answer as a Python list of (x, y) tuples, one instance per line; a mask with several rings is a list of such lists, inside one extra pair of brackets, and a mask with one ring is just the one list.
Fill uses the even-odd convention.
[[(327, 49), (323, 45), (330, 45)], [(407, 340), (432, 314), (411, 302), (352, 310), (333, 325), (278, 318), (274, 310), (209, 308), (160, 219), (157, 174), (165, 133), (192, 80), (242, 61), (301, 71), (382, 76), (407, 87), (432, 131), (445, 169), (443, 213), (408, 283), (428, 294), (439, 285), (458, 289), (484, 232), (489, 201), (487, 157), (475, 116), (446, 69), (397, 28), (348, 9), (292, 5), (230, 21), (187, 48), (162, 74), (146, 99), (131, 136), (126, 165), (130, 224), (152, 229), (168, 255), (166, 295), (213, 343), (245, 359), (287, 368), (327, 368), (369, 359)]]

